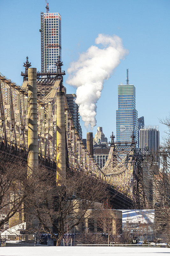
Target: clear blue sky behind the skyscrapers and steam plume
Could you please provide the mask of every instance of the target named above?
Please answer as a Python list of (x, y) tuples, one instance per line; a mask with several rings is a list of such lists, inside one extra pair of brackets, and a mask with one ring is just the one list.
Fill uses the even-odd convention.
[[(0, 0), (0, 72), (21, 85), (20, 73), (26, 56), (32, 67), (41, 69), (40, 12), (46, 12), (45, 0)], [(159, 118), (169, 115), (170, 106), (170, 1), (167, 0), (49, 0), (50, 12), (62, 16), (62, 61), (67, 70), (71, 61), (92, 44), (98, 34), (117, 35), (129, 50), (104, 89), (97, 103), (97, 126), (110, 137), (116, 132), (117, 85), (126, 82), (136, 87), (138, 117), (146, 125), (159, 125), (160, 137), (166, 127)], [(66, 80), (67, 75), (64, 77)], [(68, 93), (75, 88), (66, 85)], [(86, 129), (81, 122), (83, 138)], [(93, 135), (97, 127), (94, 127)]]

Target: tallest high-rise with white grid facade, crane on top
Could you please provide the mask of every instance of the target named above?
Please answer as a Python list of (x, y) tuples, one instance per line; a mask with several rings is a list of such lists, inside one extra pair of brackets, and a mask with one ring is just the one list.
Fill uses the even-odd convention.
[(61, 58), (61, 15), (41, 12), (41, 72), (56, 71)]

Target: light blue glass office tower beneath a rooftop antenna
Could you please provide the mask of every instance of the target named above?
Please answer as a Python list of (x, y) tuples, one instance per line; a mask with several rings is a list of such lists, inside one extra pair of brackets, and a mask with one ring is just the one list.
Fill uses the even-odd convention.
[(133, 84), (118, 85), (118, 110), (116, 110), (116, 141), (131, 141), (132, 132), (138, 140), (136, 94)]

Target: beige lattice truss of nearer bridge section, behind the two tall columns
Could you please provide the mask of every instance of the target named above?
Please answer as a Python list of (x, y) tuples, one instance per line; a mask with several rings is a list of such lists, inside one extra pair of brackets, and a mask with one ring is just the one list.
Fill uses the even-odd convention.
[[(39, 156), (42, 160), (54, 164), (56, 164), (57, 92), (60, 83), (61, 78), (56, 78), (48, 95), (37, 103)], [(8, 149), (14, 148), (18, 155), (26, 152), (28, 145), (27, 84), (28, 81), (25, 80), (19, 87), (6, 77), (0, 76), (0, 144), (4, 144)], [(88, 172), (106, 181), (105, 175), (86, 150), (75, 129), (66, 97), (65, 121), (70, 168)]]

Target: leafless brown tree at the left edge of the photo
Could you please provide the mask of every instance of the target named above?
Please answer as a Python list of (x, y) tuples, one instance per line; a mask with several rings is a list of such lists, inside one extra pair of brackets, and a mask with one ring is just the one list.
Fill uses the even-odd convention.
[(17, 215), (17, 224), (22, 222), (22, 209), (31, 191), (32, 184), (27, 177), (26, 164), (18, 159), (7, 160), (0, 155), (0, 227), (14, 215)]

